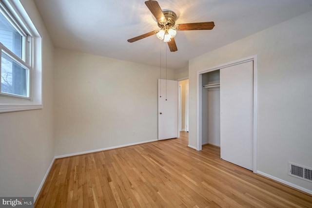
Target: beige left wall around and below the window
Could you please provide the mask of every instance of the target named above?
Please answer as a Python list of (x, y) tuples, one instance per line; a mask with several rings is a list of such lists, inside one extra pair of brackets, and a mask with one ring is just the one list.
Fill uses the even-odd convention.
[(54, 157), (54, 47), (33, 0), (21, 0), (42, 37), (43, 109), (0, 113), (0, 196), (35, 196)]

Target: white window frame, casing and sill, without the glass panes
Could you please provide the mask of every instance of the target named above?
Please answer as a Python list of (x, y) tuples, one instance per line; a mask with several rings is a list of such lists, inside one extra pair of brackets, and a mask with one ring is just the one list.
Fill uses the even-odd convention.
[(20, 59), (2, 44), (0, 44), (0, 53), (2, 50), (5, 51), (6, 54), (17, 59), (18, 63), (21, 64), (20, 61), (23, 61), (23, 67), (29, 69), (29, 95), (25, 97), (0, 92), (0, 113), (41, 109), (43, 108), (42, 38), (20, 1), (0, 0), (0, 4), (1, 10), (6, 9), (12, 17), (10, 19), (12, 25), (25, 35), (25, 44), (23, 44), (25, 56)]

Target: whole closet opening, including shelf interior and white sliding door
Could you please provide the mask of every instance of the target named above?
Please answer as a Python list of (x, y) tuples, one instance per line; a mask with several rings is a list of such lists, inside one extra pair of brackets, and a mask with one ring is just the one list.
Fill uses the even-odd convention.
[(253, 170), (254, 63), (202, 74), (202, 144), (220, 147), (221, 158)]

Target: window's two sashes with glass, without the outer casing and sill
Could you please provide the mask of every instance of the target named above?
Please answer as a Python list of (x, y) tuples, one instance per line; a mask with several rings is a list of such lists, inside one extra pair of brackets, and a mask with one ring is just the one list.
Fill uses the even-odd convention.
[(3, 5), (0, 8), (1, 85), (0, 95), (30, 97), (31, 57), (28, 51), (30, 36), (20, 29), (16, 20)]

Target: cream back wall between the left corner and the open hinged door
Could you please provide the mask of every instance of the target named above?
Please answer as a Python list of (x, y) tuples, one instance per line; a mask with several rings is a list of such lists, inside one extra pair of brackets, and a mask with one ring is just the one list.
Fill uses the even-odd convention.
[(56, 48), (55, 155), (156, 140), (159, 70)]

